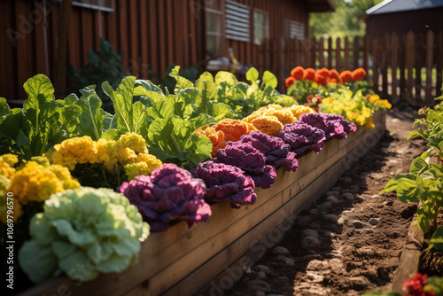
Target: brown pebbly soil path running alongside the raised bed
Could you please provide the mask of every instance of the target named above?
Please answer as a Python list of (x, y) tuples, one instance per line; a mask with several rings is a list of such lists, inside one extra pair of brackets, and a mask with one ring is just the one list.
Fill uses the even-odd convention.
[(379, 144), (302, 212), (226, 295), (361, 295), (392, 288), (416, 204), (378, 194), (426, 150), (407, 140), (417, 111), (394, 108)]

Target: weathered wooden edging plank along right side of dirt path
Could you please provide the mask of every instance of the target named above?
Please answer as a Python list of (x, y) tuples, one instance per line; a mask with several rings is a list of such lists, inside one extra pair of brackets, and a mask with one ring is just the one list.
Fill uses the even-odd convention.
[(424, 234), (423, 231), (418, 228), (416, 221), (416, 216), (414, 216), (408, 230), (406, 244), (403, 248), (403, 252), (401, 252), (399, 266), (393, 279), (392, 290), (396, 292), (403, 292), (401, 290), (402, 284), (409, 278), (410, 275), (419, 271), (418, 268), (420, 255), (423, 251)]

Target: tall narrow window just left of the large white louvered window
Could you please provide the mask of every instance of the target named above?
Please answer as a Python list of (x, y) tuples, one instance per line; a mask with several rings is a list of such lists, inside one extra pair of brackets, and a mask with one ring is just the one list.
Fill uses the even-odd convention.
[(211, 56), (218, 55), (223, 36), (220, 0), (205, 0), (206, 11), (206, 51)]

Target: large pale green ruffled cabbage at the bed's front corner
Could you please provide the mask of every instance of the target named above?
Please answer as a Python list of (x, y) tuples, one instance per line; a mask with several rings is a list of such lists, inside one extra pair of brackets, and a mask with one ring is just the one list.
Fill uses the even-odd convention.
[(120, 193), (82, 187), (52, 194), (29, 232), (19, 264), (33, 282), (62, 273), (89, 281), (135, 264), (149, 225)]

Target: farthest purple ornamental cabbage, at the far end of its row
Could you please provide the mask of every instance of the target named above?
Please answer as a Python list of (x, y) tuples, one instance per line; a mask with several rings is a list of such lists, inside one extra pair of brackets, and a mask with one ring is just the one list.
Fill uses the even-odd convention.
[(305, 113), (300, 115), (299, 121), (322, 129), (326, 140), (329, 140), (331, 137), (346, 139), (348, 133), (357, 130), (354, 123), (346, 121), (345, 118), (339, 114)]

